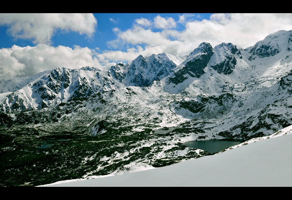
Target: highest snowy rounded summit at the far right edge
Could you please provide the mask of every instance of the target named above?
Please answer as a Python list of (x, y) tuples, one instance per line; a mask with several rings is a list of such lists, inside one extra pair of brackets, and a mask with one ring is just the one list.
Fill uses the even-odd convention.
[(248, 60), (256, 58), (265, 58), (278, 54), (282, 50), (291, 50), (291, 30), (272, 33), (265, 37), (264, 40), (257, 42), (254, 46), (244, 49), (251, 55)]

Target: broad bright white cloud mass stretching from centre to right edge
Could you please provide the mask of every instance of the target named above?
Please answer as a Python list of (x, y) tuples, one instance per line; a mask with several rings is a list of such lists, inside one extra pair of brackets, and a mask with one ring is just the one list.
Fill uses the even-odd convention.
[[(237, 47), (247, 48), (271, 33), (292, 29), (291, 13), (215, 13), (209, 20), (197, 20), (199, 18), (200, 15), (183, 14), (175, 22), (173, 18), (157, 15), (153, 26), (161, 31), (146, 27), (147, 21), (143, 18), (136, 19), (132, 28), (116, 31), (117, 39), (108, 42), (112, 46), (115, 44), (114, 47), (131, 44), (135, 51), (128, 51), (129, 48), (126, 51), (106, 51), (99, 56), (110, 61), (122, 57), (131, 61), (135, 55), (150, 56), (162, 52), (185, 56), (202, 42), (209, 42), (213, 47), (231, 42)], [(184, 25), (184, 29), (174, 29), (176, 23)], [(137, 46), (143, 47), (138, 49)]]

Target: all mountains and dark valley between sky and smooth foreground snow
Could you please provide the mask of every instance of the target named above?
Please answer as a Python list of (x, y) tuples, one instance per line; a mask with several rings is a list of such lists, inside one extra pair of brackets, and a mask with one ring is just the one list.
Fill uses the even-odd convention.
[(280, 30), (246, 49), (203, 42), (183, 57), (140, 55), (107, 71), (56, 66), (2, 79), (1, 185), (161, 167), (210, 155), (178, 144), (281, 130), (292, 124), (291, 41)]

